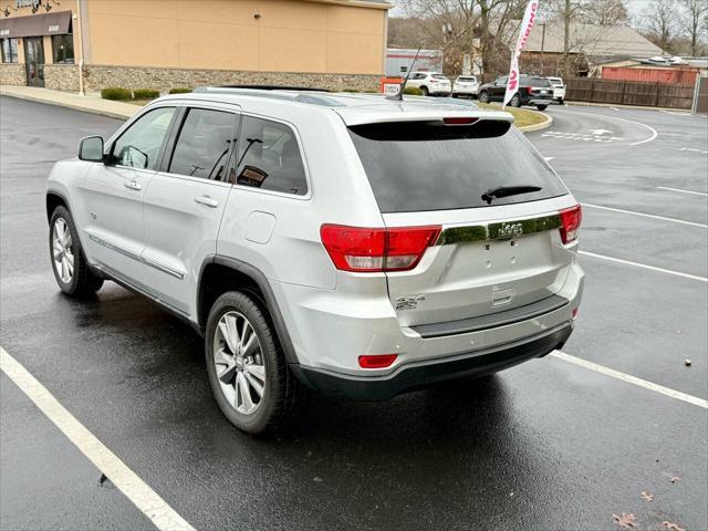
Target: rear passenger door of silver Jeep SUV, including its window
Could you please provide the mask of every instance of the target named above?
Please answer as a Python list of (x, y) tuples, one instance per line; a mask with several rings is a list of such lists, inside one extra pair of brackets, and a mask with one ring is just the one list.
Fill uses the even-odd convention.
[(217, 249), (239, 115), (194, 107), (180, 121), (163, 171), (153, 176), (145, 194), (143, 262), (153, 294), (189, 315), (201, 264)]

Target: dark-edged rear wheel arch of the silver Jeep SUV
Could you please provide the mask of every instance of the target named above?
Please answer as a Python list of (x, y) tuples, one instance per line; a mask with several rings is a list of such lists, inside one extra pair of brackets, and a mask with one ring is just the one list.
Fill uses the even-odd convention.
[(215, 254), (204, 261), (197, 284), (196, 309), (199, 331), (206, 332), (214, 302), (227, 291), (246, 291), (258, 298), (270, 317), (287, 362), (298, 364), (295, 348), (268, 278), (258, 268), (241, 260)]

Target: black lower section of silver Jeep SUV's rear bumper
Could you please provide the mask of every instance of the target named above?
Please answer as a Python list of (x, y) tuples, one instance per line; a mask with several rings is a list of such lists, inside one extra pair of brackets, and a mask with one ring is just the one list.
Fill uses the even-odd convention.
[(292, 365), (295, 375), (312, 389), (357, 400), (386, 400), (437, 382), (496, 373), (561, 348), (573, 331), (572, 322), (542, 334), (483, 351), (447, 358), (400, 365), (385, 376), (357, 377), (326, 369)]

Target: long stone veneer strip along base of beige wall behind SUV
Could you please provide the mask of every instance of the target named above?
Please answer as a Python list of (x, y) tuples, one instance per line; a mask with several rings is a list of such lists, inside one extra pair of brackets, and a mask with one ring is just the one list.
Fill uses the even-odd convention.
[(247, 72), (228, 70), (150, 69), (138, 66), (84, 66), (84, 90), (101, 92), (106, 86), (155, 88), (205, 85), (290, 85), (343, 91), (376, 91), (381, 76), (367, 74), (320, 74), (300, 72)]

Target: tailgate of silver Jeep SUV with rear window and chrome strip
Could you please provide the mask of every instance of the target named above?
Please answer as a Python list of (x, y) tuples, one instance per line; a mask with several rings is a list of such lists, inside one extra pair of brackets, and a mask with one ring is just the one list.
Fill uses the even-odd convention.
[[(497, 118), (442, 113), (350, 125), (386, 227), (440, 228), (414, 269), (386, 273), (404, 326), (558, 302), (575, 253), (562, 241), (559, 211), (575, 201), (523, 135)], [(482, 198), (499, 187), (517, 192)]]

